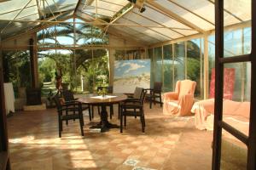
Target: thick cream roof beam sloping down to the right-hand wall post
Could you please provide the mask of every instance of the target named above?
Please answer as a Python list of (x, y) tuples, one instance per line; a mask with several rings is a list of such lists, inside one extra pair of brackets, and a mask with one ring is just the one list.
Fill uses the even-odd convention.
[(151, 6), (153, 6), (154, 8), (158, 9), (158, 11), (160, 11), (160, 13), (166, 14), (170, 18), (183, 23), (183, 25), (189, 26), (190, 28), (195, 29), (195, 31), (199, 31), (201, 33), (206, 33), (206, 31), (201, 29), (199, 26), (196, 26), (194, 23), (190, 22), (189, 20), (183, 19), (183, 17), (181, 17), (178, 14), (173, 13), (171, 10), (161, 6), (159, 3), (154, 2), (154, 0), (148, 0), (147, 3), (150, 4)]

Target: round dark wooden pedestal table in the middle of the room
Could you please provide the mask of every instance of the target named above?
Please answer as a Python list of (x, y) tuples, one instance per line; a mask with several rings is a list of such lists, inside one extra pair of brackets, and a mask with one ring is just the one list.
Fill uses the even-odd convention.
[[(110, 96), (110, 98), (108, 98), (108, 96)], [(102, 96), (99, 96), (98, 94), (86, 94), (84, 97), (79, 98), (78, 101), (84, 104), (100, 105), (102, 107), (101, 122), (90, 128), (101, 128), (101, 132), (104, 133), (108, 131), (109, 128), (119, 128), (118, 125), (108, 122), (106, 105), (119, 104), (119, 102), (124, 101), (125, 99), (127, 99), (125, 94), (107, 94), (103, 99)]]

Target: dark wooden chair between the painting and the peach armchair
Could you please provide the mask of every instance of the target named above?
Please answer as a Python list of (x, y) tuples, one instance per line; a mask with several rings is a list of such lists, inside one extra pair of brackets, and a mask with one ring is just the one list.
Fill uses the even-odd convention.
[(162, 82), (154, 82), (154, 88), (148, 88), (148, 90), (150, 93), (147, 95), (146, 98), (149, 100), (149, 108), (152, 108), (152, 102), (154, 102), (154, 105), (155, 103), (160, 103), (160, 107), (162, 107)]

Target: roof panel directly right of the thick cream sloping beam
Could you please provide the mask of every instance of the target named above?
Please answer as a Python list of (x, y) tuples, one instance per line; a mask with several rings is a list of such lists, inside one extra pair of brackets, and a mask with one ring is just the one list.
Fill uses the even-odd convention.
[(214, 29), (214, 26), (212, 26), (212, 24), (208, 23), (205, 20), (202, 20), (200, 17), (196, 16), (195, 14), (192, 14), (189, 11), (184, 10), (183, 8), (180, 8), (173, 3), (170, 3), (167, 0), (159, 0), (159, 1), (156, 1), (156, 3), (159, 3), (162, 7), (167, 8), (168, 10), (172, 11), (175, 14), (178, 14), (179, 16), (183, 17), (183, 19), (196, 24), (196, 26), (199, 26), (203, 30), (207, 31), (207, 30)]

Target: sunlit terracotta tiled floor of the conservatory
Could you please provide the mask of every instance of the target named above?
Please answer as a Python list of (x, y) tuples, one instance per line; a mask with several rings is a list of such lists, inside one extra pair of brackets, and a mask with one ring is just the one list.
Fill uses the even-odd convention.
[[(127, 118), (123, 134), (97, 133), (89, 127), (99, 116), (89, 122), (85, 113), (84, 137), (79, 122), (70, 121), (61, 139), (55, 109), (16, 112), (8, 118), (13, 170), (211, 169), (212, 132), (195, 129), (193, 116), (163, 116), (158, 105), (145, 108), (146, 133), (134, 117)], [(116, 113), (111, 122), (119, 124)]]

